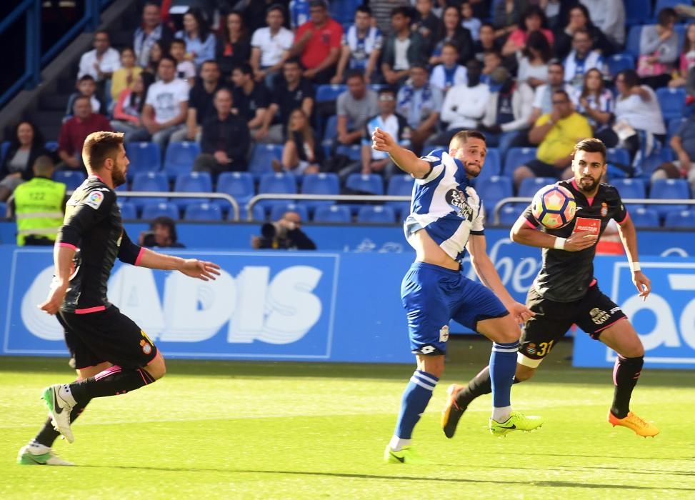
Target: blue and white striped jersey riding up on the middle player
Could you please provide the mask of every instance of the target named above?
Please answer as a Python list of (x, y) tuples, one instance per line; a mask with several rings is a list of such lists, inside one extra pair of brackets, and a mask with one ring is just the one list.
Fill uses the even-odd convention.
[(461, 261), (471, 234), (484, 234), (484, 211), (471, 186), (461, 161), (441, 149), (422, 159), (431, 170), (423, 179), (415, 179), (411, 214), (404, 231), (410, 242), (416, 231), (427, 234), (447, 255)]

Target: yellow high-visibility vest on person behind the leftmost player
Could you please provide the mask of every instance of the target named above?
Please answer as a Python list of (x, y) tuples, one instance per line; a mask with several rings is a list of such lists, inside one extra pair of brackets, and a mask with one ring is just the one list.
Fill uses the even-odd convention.
[(63, 225), (65, 184), (45, 177), (34, 177), (14, 190), (14, 213), (17, 219), (17, 244), (26, 236), (44, 236), (56, 240)]

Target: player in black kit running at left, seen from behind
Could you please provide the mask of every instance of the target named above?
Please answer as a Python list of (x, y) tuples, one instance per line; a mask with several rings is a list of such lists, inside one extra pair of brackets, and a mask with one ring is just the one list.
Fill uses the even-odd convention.
[(126, 264), (177, 270), (203, 281), (219, 274), (216, 264), (158, 254), (128, 237), (114, 191), (126, 181), (129, 164), (123, 134), (89, 134), (82, 158), (89, 178), (67, 202), (54, 246), (54, 281), (39, 306), (47, 314), (57, 314), (64, 327), (77, 380), (44, 390), (49, 419), (21, 448), (19, 464), (71, 465), (51, 446), (60, 434), (74, 441), (70, 424), (91, 399), (134, 391), (164, 376), (164, 358), (154, 343), (106, 298), (116, 257)]

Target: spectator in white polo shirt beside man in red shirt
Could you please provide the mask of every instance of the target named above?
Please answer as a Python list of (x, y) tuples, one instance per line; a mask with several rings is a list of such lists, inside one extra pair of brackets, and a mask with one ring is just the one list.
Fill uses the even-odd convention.
[(275, 78), (282, 64), (289, 57), (294, 34), (282, 26), (285, 14), (281, 6), (272, 5), (266, 14), (268, 26), (259, 28), (251, 36), (251, 68), (256, 81), (264, 81), (266, 87), (274, 88)]

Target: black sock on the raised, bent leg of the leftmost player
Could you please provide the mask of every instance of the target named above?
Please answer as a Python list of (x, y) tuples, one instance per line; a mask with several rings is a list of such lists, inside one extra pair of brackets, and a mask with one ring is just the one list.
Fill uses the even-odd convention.
[(79, 404), (93, 398), (126, 394), (152, 382), (154, 377), (144, 368), (123, 369), (114, 365), (89, 379), (70, 384), (70, 391)]

